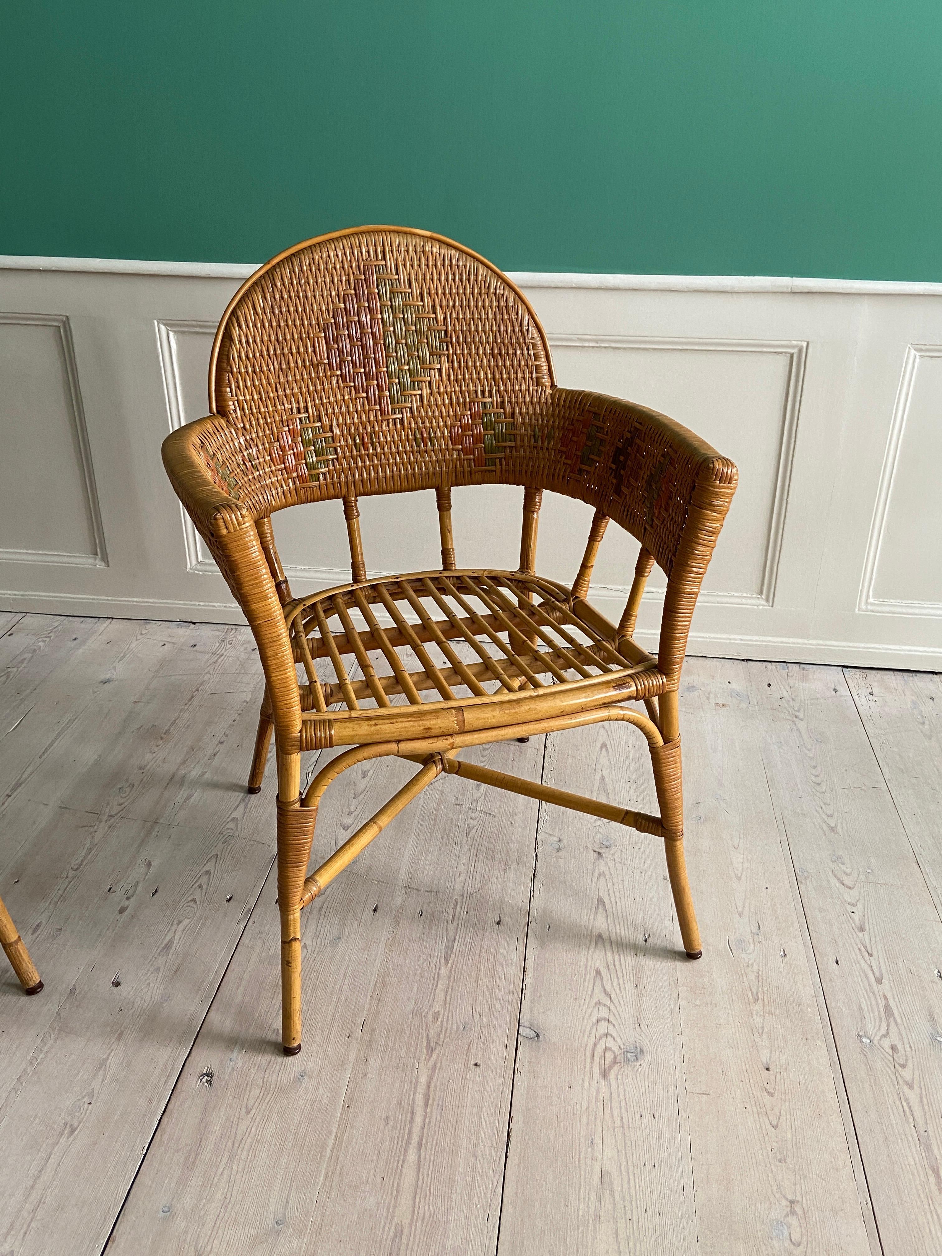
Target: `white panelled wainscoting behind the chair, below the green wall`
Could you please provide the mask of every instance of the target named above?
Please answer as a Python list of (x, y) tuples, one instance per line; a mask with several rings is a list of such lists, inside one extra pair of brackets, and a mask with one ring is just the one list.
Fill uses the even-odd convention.
[[(240, 620), (160, 446), (206, 412), (216, 323), (251, 269), (0, 260), (0, 608)], [(516, 278), (561, 384), (664, 411), (740, 467), (692, 652), (942, 667), (942, 286)], [(460, 560), (515, 566), (520, 502), (456, 490)], [(360, 511), (372, 571), (436, 565), (431, 494)], [(573, 578), (590, 519), (548, 495), (541, 571)], [(295, 589), (348, 579), (339, 502), (274, 525)], [(609, 529), (593, 599), (613, 619), (636, 553)]]

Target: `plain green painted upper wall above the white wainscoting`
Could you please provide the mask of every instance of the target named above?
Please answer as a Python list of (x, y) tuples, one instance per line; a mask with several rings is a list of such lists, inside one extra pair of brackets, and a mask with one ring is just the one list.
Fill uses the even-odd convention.
[(3, 0), (0, 252), (942, 280), (938, 0)]

